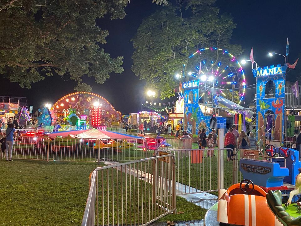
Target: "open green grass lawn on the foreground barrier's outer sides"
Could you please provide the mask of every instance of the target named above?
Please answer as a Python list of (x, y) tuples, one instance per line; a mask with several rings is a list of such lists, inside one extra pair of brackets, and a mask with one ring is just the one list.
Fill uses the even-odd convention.
[[(80, 225), (89, 174), (96, 167), (92, 162), (0, 161), (1, 225)], [(202, 219), (206, 212), (181, 197), (177, 211), (161, 221)]]

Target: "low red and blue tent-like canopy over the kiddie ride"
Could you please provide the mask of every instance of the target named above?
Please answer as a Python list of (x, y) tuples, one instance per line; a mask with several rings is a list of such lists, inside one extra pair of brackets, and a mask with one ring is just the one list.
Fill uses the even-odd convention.
[(51, 132), (46, 134), (48, 137), (76, 137), (82, 139), (142, 139), (143, 137), (132, 136), (117, 132), (110, 132), (98, 129), (88, 130), (69, 130)]

